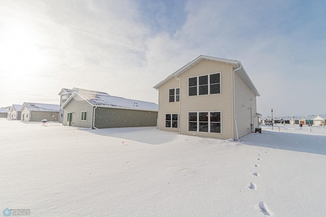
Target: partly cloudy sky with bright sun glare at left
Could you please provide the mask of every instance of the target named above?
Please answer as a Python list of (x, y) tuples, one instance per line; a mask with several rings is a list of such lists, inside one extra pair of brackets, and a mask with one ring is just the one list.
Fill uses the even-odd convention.
[(241, 61), (263, 116), (326, 114), (324, 0), (0, 0), (0, 107), (73, 87), (157, 103), (201, 54)]

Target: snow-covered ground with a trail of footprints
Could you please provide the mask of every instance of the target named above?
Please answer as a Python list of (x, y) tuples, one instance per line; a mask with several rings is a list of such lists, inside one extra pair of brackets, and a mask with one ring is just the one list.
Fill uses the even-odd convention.
[[(30, 216), (325, 216), (326, 128), (240, 141), (0, 119), (0, 210)], [(280, 130), (279, 130), (280, 127)], [(8, 211), (8, 210), (7, 210)]]

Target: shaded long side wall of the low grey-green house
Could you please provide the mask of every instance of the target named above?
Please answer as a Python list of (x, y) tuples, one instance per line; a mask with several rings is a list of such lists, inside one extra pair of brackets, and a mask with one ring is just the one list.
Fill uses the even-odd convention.
[(156, 126), (157, 112), (131, 109), (96, 108), (96, 128), (126, 128)]

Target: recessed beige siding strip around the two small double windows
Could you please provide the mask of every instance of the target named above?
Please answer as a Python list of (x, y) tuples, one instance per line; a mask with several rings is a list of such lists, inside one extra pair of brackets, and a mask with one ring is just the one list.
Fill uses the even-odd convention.
[[(172, 78), (167, 83), (159, 87), (158, 91), (158, 129), (179, 132), (179, 128), (166, 128), (166, 114), (179, 114), (180, 102), (169, 102), (169, 89), (179, 88), (179, 80)], [(181, 94), (181, 89), (180, 89)], [(180, 95), (181, 98), (181, 95)], [(181, 99), (180, 99), (181, 100)], [(179, 120), (180, 121), (180, 120)], [(180, 124), (180, 122), (179, 122)]]

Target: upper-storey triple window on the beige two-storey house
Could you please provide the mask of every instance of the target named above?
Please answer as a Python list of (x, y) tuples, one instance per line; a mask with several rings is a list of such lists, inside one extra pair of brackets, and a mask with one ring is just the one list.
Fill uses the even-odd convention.
[(220, 94), (221, 73), (188, 78), (188, 96)]

